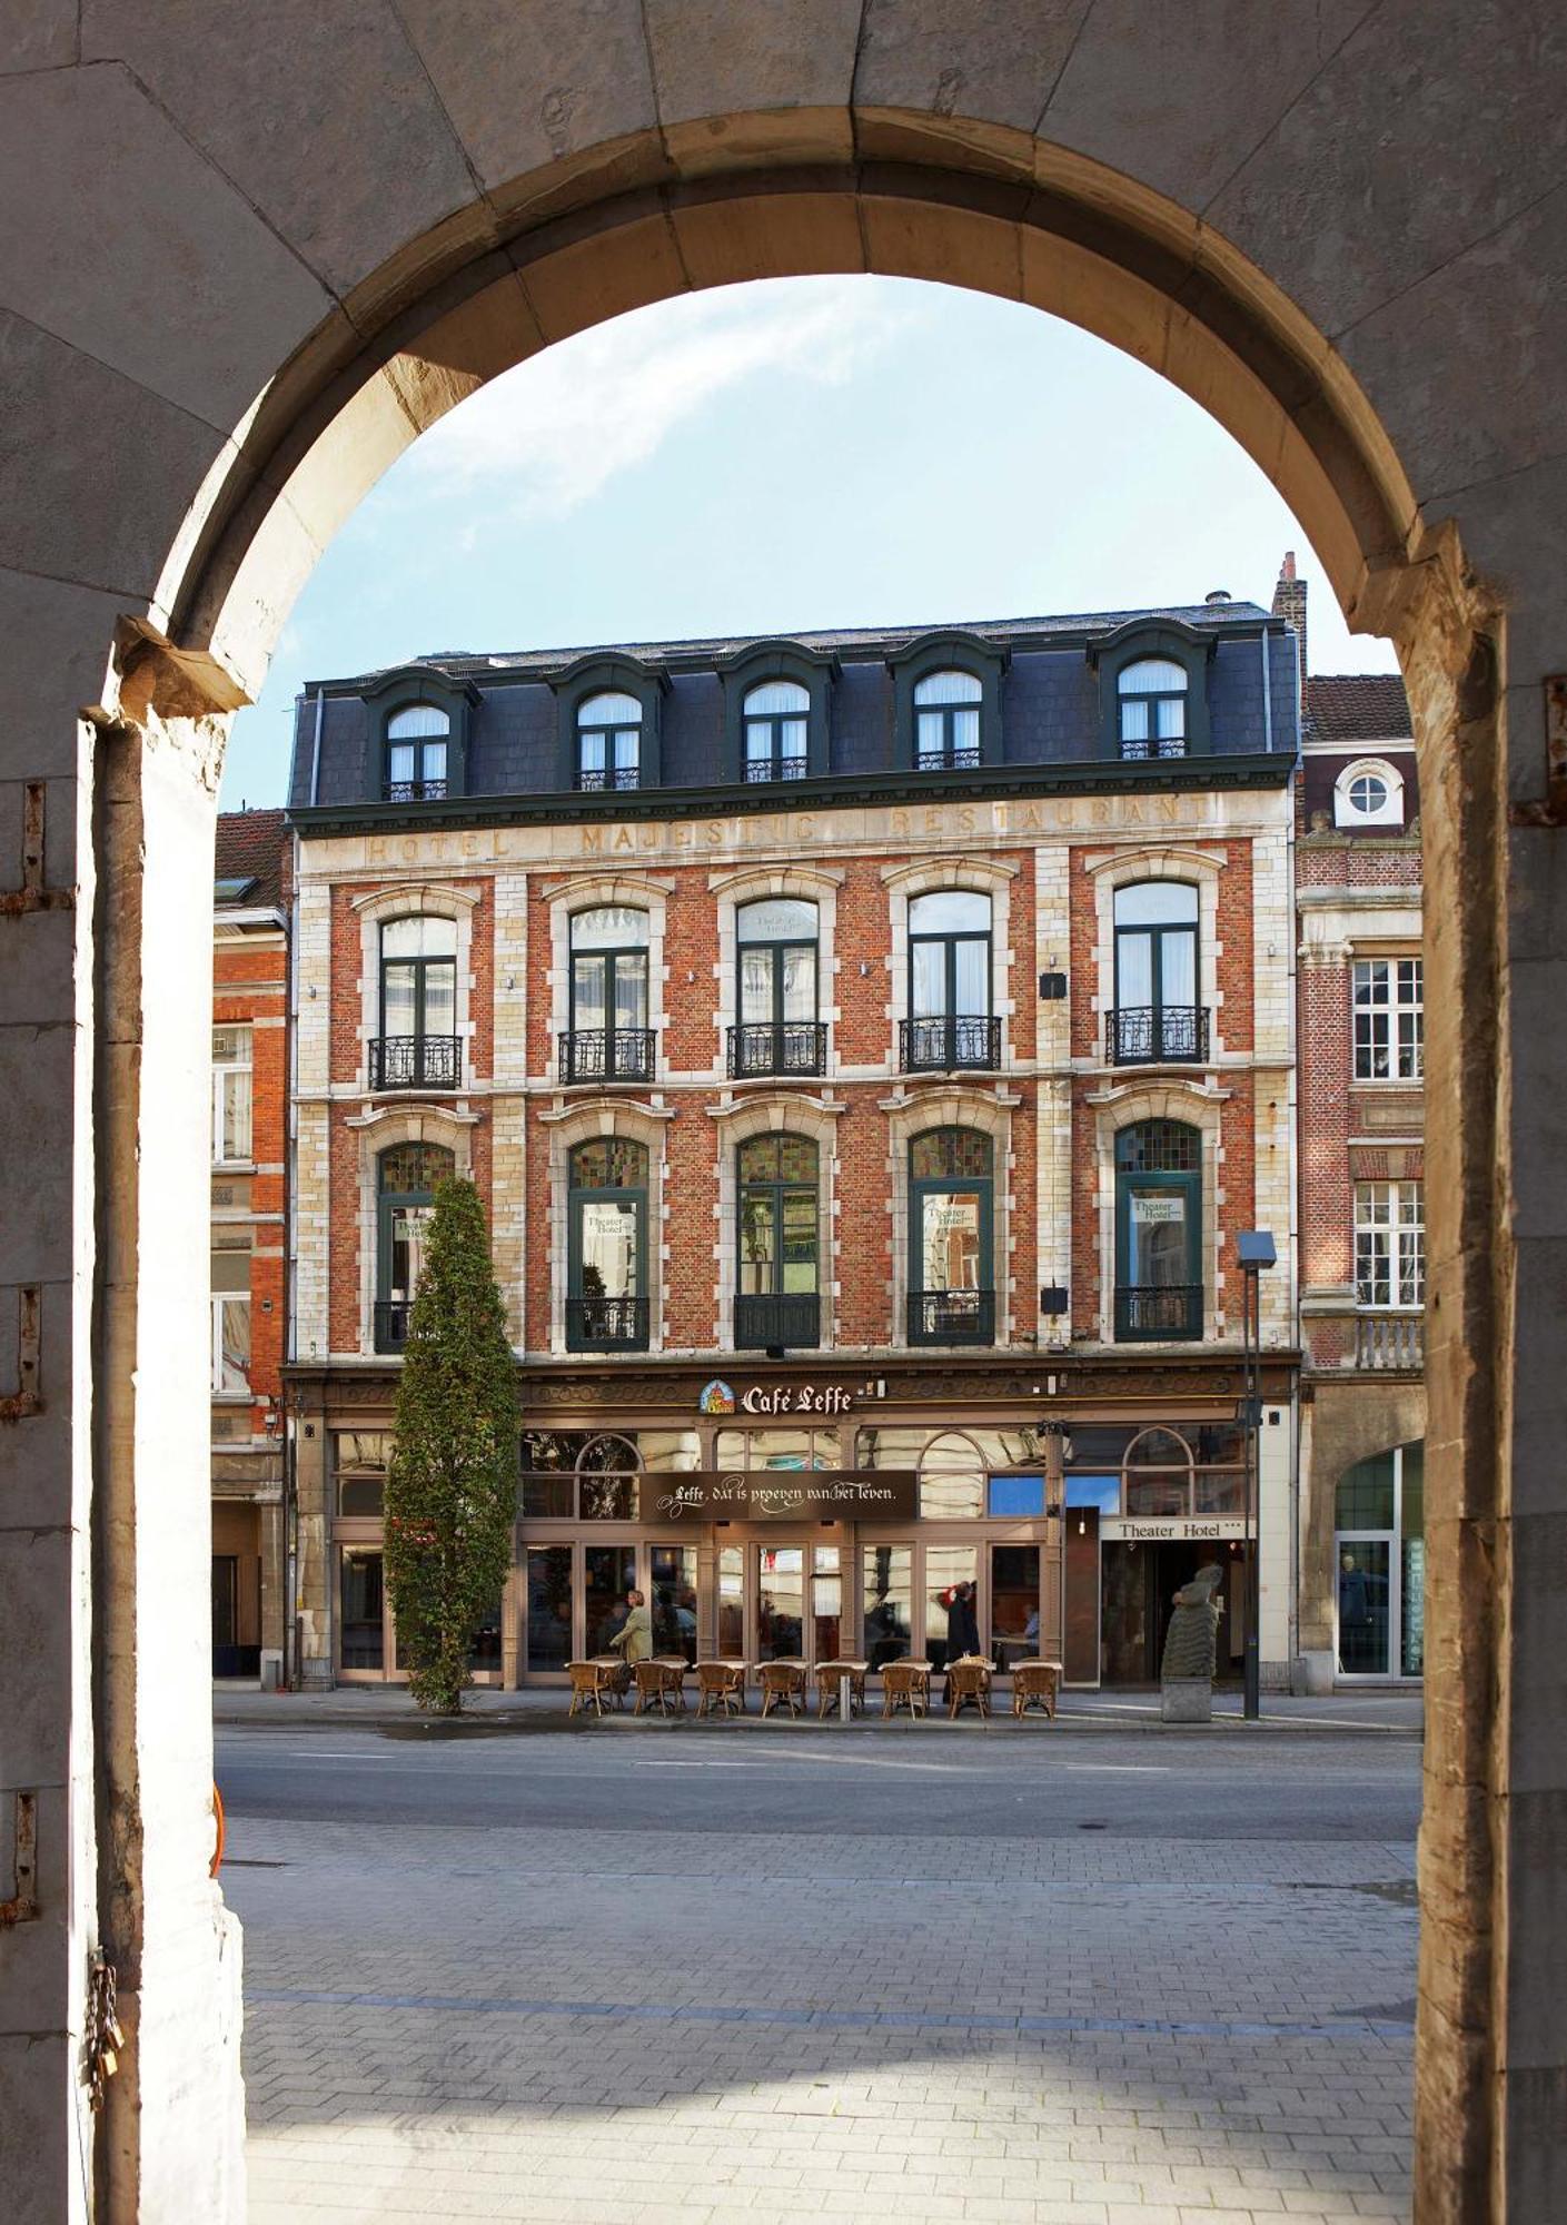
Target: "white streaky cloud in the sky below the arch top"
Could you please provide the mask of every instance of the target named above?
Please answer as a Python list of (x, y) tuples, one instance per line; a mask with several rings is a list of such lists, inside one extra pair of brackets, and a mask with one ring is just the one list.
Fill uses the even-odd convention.
[(761, 374), (844, 385), (910, 320), (866, 278), (790, 278), (657, 303), (496, 378), (418, 443), (418, 476), (483, 483), (521, 516), (565, 516), (677, 425)]

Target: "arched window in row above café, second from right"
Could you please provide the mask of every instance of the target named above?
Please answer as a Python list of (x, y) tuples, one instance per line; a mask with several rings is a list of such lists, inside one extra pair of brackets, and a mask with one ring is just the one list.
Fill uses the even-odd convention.
[(993, 1148), (979, 1128), (908, 1146), (908, 1342), (995, 1344)]

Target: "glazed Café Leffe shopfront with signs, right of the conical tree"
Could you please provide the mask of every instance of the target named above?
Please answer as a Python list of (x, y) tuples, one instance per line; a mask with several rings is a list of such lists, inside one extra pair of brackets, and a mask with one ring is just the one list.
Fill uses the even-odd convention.
[(1060, 1513), (1031, 1424), (886, 1420), (877, 1386), (712, 1380), (690, 1426), (530, 1431), (519, 1522), (523, 1680), (601, 1651), (625, 1591), (654, 1642), (817, 1664), (979, 1644), (1060, 1653)]

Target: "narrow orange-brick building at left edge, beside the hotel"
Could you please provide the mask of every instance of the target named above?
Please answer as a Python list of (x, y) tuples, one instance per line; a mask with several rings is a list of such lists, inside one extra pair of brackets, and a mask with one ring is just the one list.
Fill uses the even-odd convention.
[(220, 812), (211, 914), (211, 1669), (283, 1651), (283, 812)]

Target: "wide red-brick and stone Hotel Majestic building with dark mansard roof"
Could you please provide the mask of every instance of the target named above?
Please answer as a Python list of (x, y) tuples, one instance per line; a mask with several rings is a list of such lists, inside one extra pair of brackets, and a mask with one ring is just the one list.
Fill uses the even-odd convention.
[[(1289, 1675), (1293, 634), (1186, 610), (450, 654), (300, 701), (303, 1669), (396, 1675), (381, 1477), (421, 1224), (490, 1208), (523, 1400), (474, 1664), (948, 1644), (1157, 1671), (1231, 1569), (1264, 1277)], [(959, 1615), (962, 1629), (962, 1615)]]

